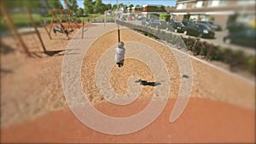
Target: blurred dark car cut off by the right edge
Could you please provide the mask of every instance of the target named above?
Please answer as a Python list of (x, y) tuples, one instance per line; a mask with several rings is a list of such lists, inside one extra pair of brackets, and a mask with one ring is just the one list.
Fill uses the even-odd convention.
[(234, 43), (238, 45), (248, 46), (256, 49), (256, 30), (255, 28), (241, 29), (238, 32), (231, 32), (224, 37), (224, 43)]

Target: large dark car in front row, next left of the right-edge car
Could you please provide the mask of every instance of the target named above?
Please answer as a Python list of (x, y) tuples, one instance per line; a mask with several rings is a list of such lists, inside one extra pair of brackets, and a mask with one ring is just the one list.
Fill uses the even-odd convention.
[(189, 24), (185, 27), (185, 35), (191, 35), (195, 37), (209, 37), (213, 38), (215, 32), (206, 24)]

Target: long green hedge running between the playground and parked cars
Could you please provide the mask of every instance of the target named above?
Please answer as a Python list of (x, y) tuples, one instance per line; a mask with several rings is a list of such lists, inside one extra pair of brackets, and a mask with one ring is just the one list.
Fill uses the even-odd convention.
[[(191, 51), (192, 55), (200, 55), (201, 58), (205, 60), (224, 62), (230, 66), (231, 71), (241, 70), (250, 72), (254, 76), (256, 75), (255, 55), (246, 55), (241, 50), (231, 50), (212, 43), (207, 43), (206, 41), (201, 41), (200, 38), (182, 37), (174, 32), (163, 31), (154, 27), (138, 26), (122, 20), (117, 20), (117, 22), (121, 26), (130, 27), (137, 32), (143, 33), (145, 36), (161, 39), (172, 45), (185, 44), (181, 47), (186, 47)], [(182, 40), (183, 43), (180, 42)]]

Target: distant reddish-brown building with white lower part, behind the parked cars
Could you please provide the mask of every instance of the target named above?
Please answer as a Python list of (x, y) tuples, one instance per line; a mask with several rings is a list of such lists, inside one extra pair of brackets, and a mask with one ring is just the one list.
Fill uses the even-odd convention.
[(166, 14), (166, 9), (163, 5), (146, 4), (143, 5), (142, 14), (143, 17), (150, 19), (154, 17), (152, 15), (159, 17), (160, 14)]

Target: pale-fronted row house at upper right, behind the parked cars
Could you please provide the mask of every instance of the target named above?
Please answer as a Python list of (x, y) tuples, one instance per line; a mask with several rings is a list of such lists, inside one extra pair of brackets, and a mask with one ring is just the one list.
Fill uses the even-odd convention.
[(214, 20), (223, 27), (228, 21), (241, 15), (237, 20), (255, 20), (255, 0), (177, 0), (175, 20)]

